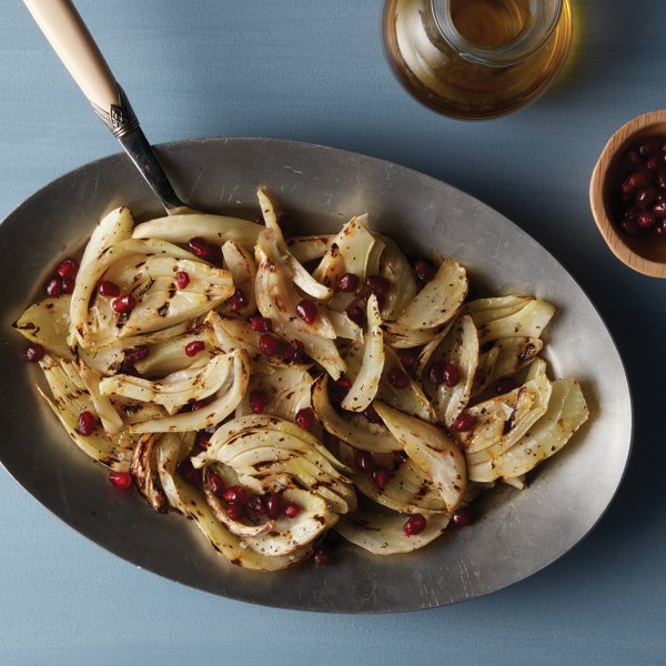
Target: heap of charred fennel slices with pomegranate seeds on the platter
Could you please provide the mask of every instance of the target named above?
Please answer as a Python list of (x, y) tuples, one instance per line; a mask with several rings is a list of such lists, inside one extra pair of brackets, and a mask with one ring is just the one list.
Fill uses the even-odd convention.
[(74, 444), (232, 564), (321, 562), (331, 529), (424, 547), (587, 418), (539, 357), (549, 303), (470, 301), (462, 264), (414, 269), (367, 215), (285, 238), (258, 198), (263, 224), (112, 211), (14, 323)]

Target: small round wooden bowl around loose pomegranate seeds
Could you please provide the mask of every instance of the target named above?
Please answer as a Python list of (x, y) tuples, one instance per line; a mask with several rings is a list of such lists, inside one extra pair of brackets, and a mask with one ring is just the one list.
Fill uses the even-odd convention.
[(632, 145), (653, 135), (666, 141), (666, 110), (638, 115), (610, 137), (592, 173), (589, 203), (606, 244), (619, 261), (644, 275), (666, 278), (666, 241), (623, 233), (620, 212), (613, 203), (625, 169), (623, 155)]

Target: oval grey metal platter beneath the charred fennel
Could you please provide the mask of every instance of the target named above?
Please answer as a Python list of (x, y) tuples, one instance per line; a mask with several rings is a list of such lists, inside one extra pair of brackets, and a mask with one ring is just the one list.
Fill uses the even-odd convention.
[[(341, 150), (271, 139), (165, 144), (160, 160), (193, 205), (259, 212), (268, 188), (305, 233), (333, 231), (370, 213), (373, 229), (407, 252), (455, 256), (488, 293), (524, 292), (553, 302), (551, 372), (576, 376), (591, 418), (542, 465), (525, 491), (501, 487), (481, 519), (431, 546), (379, 557), (342, 544), (334, 563), (276, 574), (232, 566), (191, 521), (158, 514), (69, 440), (36, 391), (39, 369), (20, 359), (11, 323), (37, 300), (59, 260), (81, 248), (105, 212), (125, 204), (147, 218), (158, 202), (124, 154), (87, 164), (37, 192), (0, 225), (0, 461), (41, 504), (127, 561), (213, 594), (320, 612), (395, 612), (443, 606), (516, 583), (579, 542), (609, 504), (632, 441), (632, 405), (613, 340), (585, 293), (539, 244), (472, 196), (408, 169)], [(30, 234), (31, 252), (26, 246)], [(27, 416), (29, 427), (26, 426)]]

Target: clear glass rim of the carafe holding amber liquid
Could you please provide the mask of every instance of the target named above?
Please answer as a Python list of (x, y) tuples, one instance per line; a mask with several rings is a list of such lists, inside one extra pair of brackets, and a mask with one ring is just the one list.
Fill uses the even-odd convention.
[(494, 49), (477, 47), (458, 32), (451, 16), (451, 2), (452, 0), (431, 0), (435, 23), (448, 46), (470, 62), (487, 67), (508, 67), (529, 58), (551, 38), (559, 22), (565, 0), (553, 1), (553, 12), (545, 29), (536, 31), (535, 27), (528, 28), (511, 43)]

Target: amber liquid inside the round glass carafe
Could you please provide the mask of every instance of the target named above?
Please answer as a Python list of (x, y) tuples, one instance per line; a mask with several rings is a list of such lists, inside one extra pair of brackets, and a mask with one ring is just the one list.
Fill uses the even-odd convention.
[[(509, 48), (535, 20), (539, 0), (451, 0), (451, 18), (473, 47)], [(431, 0), (387, 0), (384, 48), (403, 85), (421, 102), (464, 120), (504, 115), (536, 99), (562, 69), (572, 38), (568, 0), (558, 24), (534, 53), (512, 64), (471, 61), (452, 49)]]

